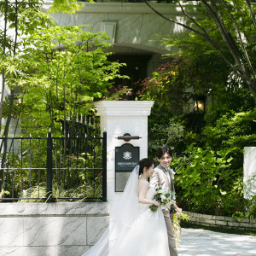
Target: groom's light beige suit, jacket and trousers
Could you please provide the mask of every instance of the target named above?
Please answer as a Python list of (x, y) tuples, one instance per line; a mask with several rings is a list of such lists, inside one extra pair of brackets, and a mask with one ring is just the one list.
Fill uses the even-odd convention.
[[(166, 170), (166, 168), (162, 165), (158, 165), (154, 168), (153, 176), (150, 177), (150, 185), (155, 189), (158, 187), (168, 188), (171, 191), (174, 191), (172, 172)], [(169, 241), (169, 249), (171, 256), (177, 256), (176, 249), (176, 240), (174, 237), (173, 229), (172, 229), (172, 220), (170, 218), (170, 209), (168, 207), (162, 207), (161, 209), (164, 213), (165, 221), (166, 221), (166, 229), (168, 233), (168, 241)]]

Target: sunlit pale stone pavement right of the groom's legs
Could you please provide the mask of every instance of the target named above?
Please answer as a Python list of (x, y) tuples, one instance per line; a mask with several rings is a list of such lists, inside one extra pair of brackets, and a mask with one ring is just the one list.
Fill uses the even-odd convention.
[(256, 236), (182, 229), (178, 256), (256, 256)]

